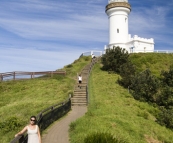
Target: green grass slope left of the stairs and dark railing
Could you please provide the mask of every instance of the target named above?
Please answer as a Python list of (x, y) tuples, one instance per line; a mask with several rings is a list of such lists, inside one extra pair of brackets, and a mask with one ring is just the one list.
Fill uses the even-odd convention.
[[(66, 76), (0, 82), (0, 127), (5, 124), (5, 128), (0, 128), (0, 143), (10, 142), (29, 123), (31, 115), (67, 99), (73, 93), (77, 73), (90, 60), (90, 57), (82, 57), (65, 66)], [(12, 119), (16, 122), (12, 123)], [(10, 128), (9, 122), (19, 125)]]

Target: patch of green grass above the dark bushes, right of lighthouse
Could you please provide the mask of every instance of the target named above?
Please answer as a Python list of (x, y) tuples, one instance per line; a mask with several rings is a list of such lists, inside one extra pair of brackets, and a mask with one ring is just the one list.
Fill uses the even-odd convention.
[(160, 76), (162, 70), (168, 71), (173, 65), (173, 54), (166, 53), (134, 53), (130, 54), (130, 59), (138, 72), (149, 68), (157, 77)]

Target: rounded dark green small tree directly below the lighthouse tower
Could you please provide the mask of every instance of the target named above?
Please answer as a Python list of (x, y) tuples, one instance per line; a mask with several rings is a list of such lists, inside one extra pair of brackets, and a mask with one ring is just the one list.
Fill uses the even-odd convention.
[(125, 49), (113, 47), (106, 50), (101, 58), (103, 70), (120, 73), (120, 66), (128, 61), (129, 54)]

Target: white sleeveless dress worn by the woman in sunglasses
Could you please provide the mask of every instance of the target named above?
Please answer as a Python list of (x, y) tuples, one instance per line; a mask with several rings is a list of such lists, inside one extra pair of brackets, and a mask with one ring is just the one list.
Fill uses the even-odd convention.
[(28, 130), (28, 143), (39, 143), (38, 138), (38, 126), (36, 125), (36, 128), (34, 130), (30, 129), (29, 126), (27, 126)]

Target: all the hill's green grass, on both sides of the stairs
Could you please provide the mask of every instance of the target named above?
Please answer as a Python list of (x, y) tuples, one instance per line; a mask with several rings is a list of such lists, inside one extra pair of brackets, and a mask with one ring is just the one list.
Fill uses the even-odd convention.
[[(173, 63), (172, 54), (141, 53), (130, 58), (139, 72), (150, 68), (157, 76)], [(20, 124), (14, 129), (7, 124), (6, 130), (0, 126), (0, 143), (8, 143), (31, 115), (66, 99), (73, 91), (76, 73), (90, 60), (83, 57), (65, 66), (65, 77), (1, 82), (0, 125), (8, 123), (11, 117)], [(88, 112), (71, 124), (71, 143), (83, 143), (87, 135), (95, 132), (108, 132), (128, 143), (172, 143), (173, 132), (155, 122), (157, 108), (134, 100), (127, 89), (117, 84), (119, 75), (108, 74), (100, 70), (101, 66), (96, 64), (91, 73)]]

